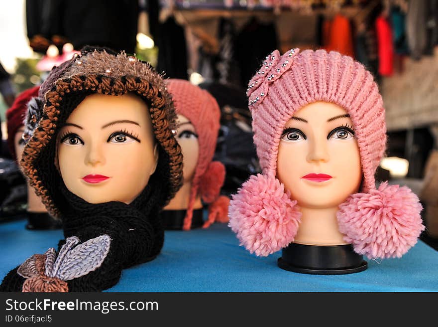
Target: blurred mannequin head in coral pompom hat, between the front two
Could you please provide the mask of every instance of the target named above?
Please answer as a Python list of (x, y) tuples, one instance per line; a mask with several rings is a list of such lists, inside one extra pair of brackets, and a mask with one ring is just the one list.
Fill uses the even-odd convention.
[(212, 203), (210, 213), (215, 212), (209, 214), (204, 227), (215, 220), (227, 220), (229, 200), (219, 197), (225, 168), (213, 162), (219, 132), (219, 105), (210, 93), (188, 81), (170, 79), (167, 87), (179, 115), (176, 136), (184, 154), (184, 186), (165, 209), (187, 209), (183, 224), (187, 230), (191, 227), (193, 209), (202, 207), (202, 198), (205, 203)]

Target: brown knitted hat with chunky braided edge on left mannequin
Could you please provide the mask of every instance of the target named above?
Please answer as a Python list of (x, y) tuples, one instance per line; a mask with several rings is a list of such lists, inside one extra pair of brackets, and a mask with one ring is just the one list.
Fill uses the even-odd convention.
[[(165, 205), (182, 185), (181, 148), (175, 140), (176, 114), (163, 79), (145, 62), (109, 49), (86, 47), (82, 55), (53, 68), (41, 85), (40, 115), (23, 151), (21, 166), (29, 183), (53, 216), (60, 216), (63, 198), (53, 182), (56, 136), (72, 111), (93, 93), (123, 95), (133, 92), (149, 105), (160, 163), (168, 173), (162, 178)], [(163, 158), (164, 157), (164, 158)], [(57, 176), (55, 176), (58, 178)]]

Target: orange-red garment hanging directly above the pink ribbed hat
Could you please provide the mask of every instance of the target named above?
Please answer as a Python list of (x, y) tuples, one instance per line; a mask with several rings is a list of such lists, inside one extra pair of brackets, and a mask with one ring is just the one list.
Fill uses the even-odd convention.
[(323, 28), (323, 35), (328, 38), (327, 41), (324, 40), (327, 51), (337, 51), (354, 58), (353, 36), (348, 18), (338, 13), (331, 24), (324, 23)]

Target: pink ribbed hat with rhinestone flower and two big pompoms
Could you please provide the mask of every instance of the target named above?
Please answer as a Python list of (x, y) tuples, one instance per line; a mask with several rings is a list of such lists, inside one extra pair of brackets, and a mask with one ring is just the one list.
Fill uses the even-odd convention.
[(294, 241), (301, 212), (276, 178), (280, 137), (303, 106), (326, 101), (350, 115), (359, 147), (361, 193), (339, 206), (339, 231), (358, 254), (401, 257), (424, 230), (418, 197), (406, 186), (375, 187), (374, 174), (386, 147), (385, 110), (373, 76), (338, 52), (278, 50), (266, 57), (248, 86), (257, 156), (263, 174), (253, 175), (233, 195), (229, 226), (241, 245), (266, 256)]

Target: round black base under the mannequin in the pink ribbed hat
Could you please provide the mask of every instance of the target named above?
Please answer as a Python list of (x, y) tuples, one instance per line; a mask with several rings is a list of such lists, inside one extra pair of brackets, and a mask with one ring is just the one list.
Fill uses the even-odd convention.
[(281, 251), (278, 267), (302, 274), (343, 275), (367, 269), (363, 256), (346, 245), (304, 245), (291, 243)]

